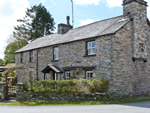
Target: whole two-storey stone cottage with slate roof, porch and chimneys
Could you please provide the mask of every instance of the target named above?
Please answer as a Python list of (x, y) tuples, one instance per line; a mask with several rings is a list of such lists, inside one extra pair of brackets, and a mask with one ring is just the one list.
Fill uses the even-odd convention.
[(123, 15), (58, 32), (15, 52), (18, 83), (37, 80), (104, 78), (116, 95), (150, 92), (150, 22), (147, 2), (124, 0)]

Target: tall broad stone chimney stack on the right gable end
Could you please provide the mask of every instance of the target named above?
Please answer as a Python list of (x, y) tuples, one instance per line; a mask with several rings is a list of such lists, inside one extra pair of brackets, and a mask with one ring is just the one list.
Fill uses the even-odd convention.
[(133, 30), (133, 58), (147, 59), (147, 2), (144, 0), (124, 0), (123, 15), (130, 18)]

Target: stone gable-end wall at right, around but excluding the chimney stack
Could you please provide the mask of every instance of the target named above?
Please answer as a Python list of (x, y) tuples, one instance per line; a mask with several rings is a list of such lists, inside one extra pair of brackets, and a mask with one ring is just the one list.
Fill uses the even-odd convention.
[[(147, 62), (133, 61), (132, 21), (112, 37), (112, 76), (109, 91), (114, 95), (143, 95), (150, 93), (150, 49)], [(149, 31), (150, 27), (147, 29)], [(140, 35), (140, 34), (139, 34)], [(150, 31), (148, 32), (150, 40)], [(150, 42), (148, 48), (150, 48)]]

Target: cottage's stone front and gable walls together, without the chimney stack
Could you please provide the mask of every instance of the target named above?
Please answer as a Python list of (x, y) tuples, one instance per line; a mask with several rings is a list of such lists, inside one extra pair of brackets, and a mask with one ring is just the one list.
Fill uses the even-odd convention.
[[(150, 30), (148, 30), (150, 37)], [(38, 77), (43, 80), (41, 72), (47, 64), (54, 63), (60, 67), (70, 66), (96, 66), (93, 73), (97, 78), (109, 80), (109, 92), (115, 95), (138, 95), (150, 92), (150, 46), (148, 46), (148, 62), (143, 60), (133, 61), (133, 29), (132, 21), (120, 29), (116, 35), (96, 38), (96, 56), (84, 57), (87, 40), (61, 44), (59, 46), (59, 61), (53, 62), (53, 46), (39, 49)], [(149, 39), (148, 39), (149, 40)], [(148, 44), (150, 45), (150, 44)], [(29, 71), (34, 71), (36, 78), (37, 50), (34, 50), (34, 61), (29, 62), (29, 52), (24, 52), (25, 62), (20, 63), (20, 54), (16, 54), (16, 76), (22, 82), (29, 76)], [(79, 63), (78, 63), (79, 62)], [(23, 67), (23, 68), (21, 68)], [(50, 74), (47, 74), (52, 79)], [(64, 74), (60, 75), (64, 79)], [(85, 70), (79, 70), (79, 78), (85, 77)], [(141, 82), (140, 82), (141, 81)]]

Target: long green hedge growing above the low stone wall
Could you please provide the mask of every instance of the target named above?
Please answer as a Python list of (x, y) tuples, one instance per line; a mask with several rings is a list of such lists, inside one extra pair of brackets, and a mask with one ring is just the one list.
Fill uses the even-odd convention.
[(32, 90), (57, 93), (95, 93), (107, 92), (108, 81), (104, 79), (42, 80), (36, 81)]

